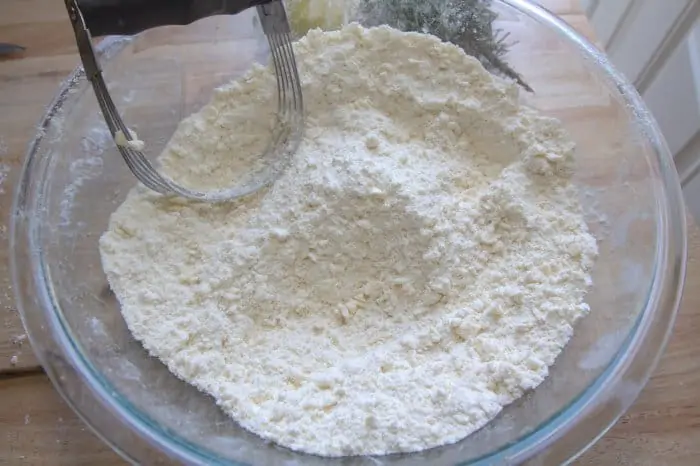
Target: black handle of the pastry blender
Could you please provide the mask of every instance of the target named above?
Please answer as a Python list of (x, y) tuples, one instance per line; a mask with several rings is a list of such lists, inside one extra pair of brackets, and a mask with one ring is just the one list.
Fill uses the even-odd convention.
[(166, 25), (190, 24), (218, 14), (236, 14), (272, 0), (78, 0), (93, 36), (131, 35)]

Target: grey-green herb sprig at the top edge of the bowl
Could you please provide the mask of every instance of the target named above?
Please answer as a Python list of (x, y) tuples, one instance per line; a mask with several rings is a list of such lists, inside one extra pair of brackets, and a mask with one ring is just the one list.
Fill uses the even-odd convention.
[(360, 0), (358, 13), (366, 26), (387, 24), (458, 45), (487, 70), (532, 92), (504, 59), (511, 44), (508, 33), (494, 26), (498, 15), (491, 9), (491, 0)]

